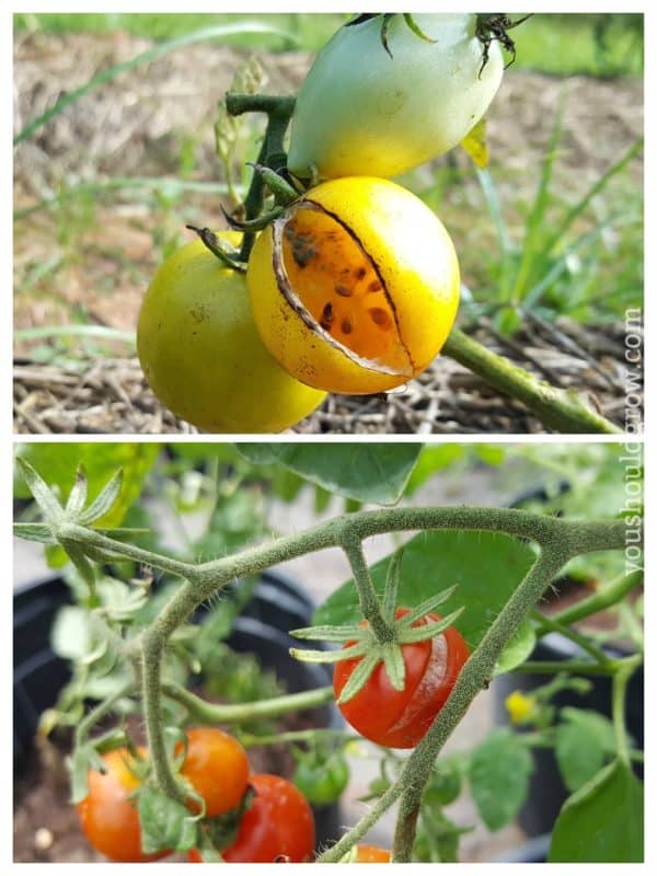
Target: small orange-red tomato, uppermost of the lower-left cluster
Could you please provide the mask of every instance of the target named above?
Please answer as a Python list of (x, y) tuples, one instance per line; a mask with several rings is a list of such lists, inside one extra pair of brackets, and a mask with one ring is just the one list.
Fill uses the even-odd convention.
[(206, 804), (206, 817), (223, 815), (240, 805), (249, 784), (249, 760), (232, 736), (215, 727), (186, 731), (187, 756), (181, 768)]

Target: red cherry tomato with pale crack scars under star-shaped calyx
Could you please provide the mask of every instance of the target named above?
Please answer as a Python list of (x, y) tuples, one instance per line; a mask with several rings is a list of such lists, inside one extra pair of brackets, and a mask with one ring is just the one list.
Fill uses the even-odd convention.
[[(396, 616), (410, 610), (400, 608)], [(439, 620), (438, 614), (429, 613), (413, 626)], [(347, 642), (345, 647), (350, 644)], [(470, 652), (461, 634), (450, 626), (435, 638), (402, 645), (402, 655), (406, 667), (404, 690), (392, 687), (384, 665), (379, 664), (356, 696), (338, 703), (341, 712), (358, 733), (389, 748), (414, 748), (419, 742), (445, 705)], [(336, 699), (361, 659), (336, 664), (333, 676)]]

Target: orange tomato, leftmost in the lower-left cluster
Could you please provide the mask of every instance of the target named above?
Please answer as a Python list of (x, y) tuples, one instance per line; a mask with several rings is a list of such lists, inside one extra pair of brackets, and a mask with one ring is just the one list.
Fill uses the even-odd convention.
[[(139, 749), (146, 754), (145, 749)], [(89, 794), (78, 804), (82, 830), (89, 842), (112, 861), (155, 861), (168, 852), (141, 851), (139, 814), (128, 797), (139, 787), (135, 761), (126, 748), (103, 756), (105, 773), (89, 771)]]

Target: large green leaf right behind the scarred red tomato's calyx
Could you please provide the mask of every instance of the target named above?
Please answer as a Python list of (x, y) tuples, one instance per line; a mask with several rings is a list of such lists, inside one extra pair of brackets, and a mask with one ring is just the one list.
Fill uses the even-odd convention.
[[(374, 563), (370, 568), (379, 596), (383, 593), (392, 556)], [(440, 614), (446, 616), (465, 607), (454, 626), (473, 649), (534, 560), (535, 554), (529, 544), (509, 535), (451, 530), (422, 532), (404, 546), (399, 604), (418, 606), (446, 586), (458, 584), (458, 588), (440, 606)], [(351, 579), (320, 606), (313, 625), (357, 623), (360, 619), (358, 593)]]

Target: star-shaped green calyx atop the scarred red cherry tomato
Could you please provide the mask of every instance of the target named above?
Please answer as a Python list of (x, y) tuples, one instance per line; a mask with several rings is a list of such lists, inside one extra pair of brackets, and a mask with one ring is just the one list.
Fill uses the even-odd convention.
[[(429, 599), (420, 602), (419, 606), (416, 606), (401, 616), (396, 616), (396, 595), (401, 561), (402, 552), (397, 551), (388, 568), (382, 604), (378, 607), (380, 610), (379, 633), (377, 633), (374, 624), (369, 623), (369, 620), (360, 624), (347, 624), (344, 626), (308, 626), (302, 630), (292, 630), (290, 632), (290, 635), (296, 638), (315, 642), (348, 643), (338, 650), (304, 650), (300, 648), (290, 648), (290, 654), (297, 660), (303, 662), (335, 664), (341, 660), (361, 658), (343, 688), (337, 700), (338, 703), (347, 703), (349, 700), (353, 700), (367, 684), (370, 676), (381, 662), (385, 666), (385, 671), (388, 672), (388, 678), (392, 687), (397, 691), (404, 690), (406, 669), (402, 647), (404, 645), (412, 645), (435, 638), (448, 630), (463, 611), (464, 607), (461, 607), (439, 621), (429, 621), (414, 626), (414, 624), (422, 621), (427, 613), (434, 611), (441, 602), (448, 600), (456, 590), (454, 586), (441, 590), (439, 593), (435, 593), (429, 597)], [(381, 621), (383, 623), (381, 623)]]

